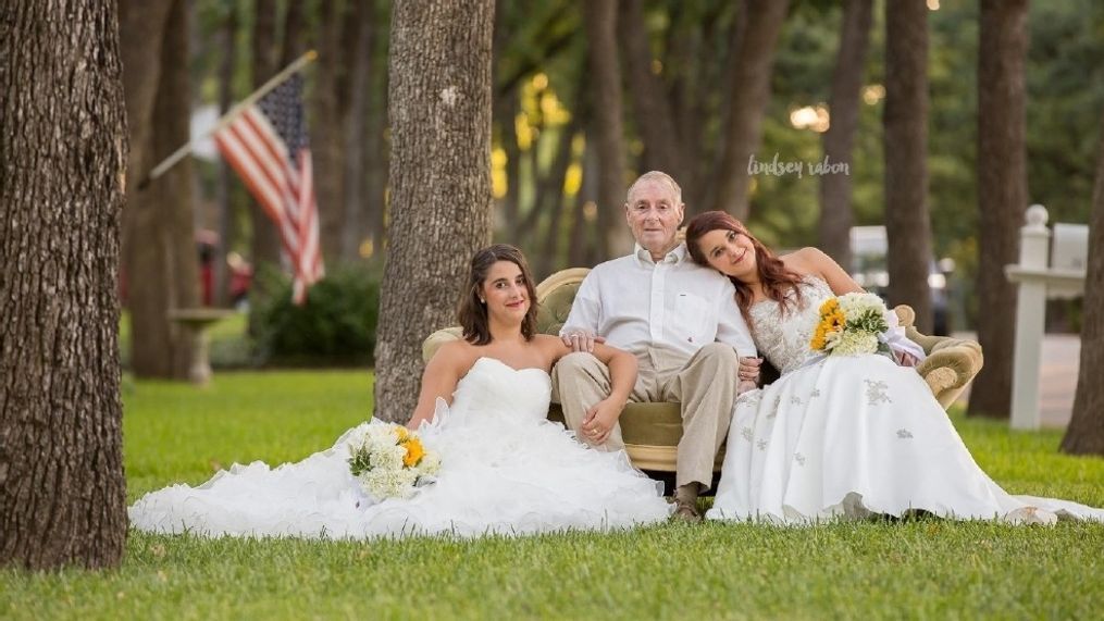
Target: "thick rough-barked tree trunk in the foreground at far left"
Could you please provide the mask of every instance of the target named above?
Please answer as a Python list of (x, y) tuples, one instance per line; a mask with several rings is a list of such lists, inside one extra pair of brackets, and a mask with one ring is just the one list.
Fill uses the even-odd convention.
[(0, 565), (116, 567), (127, 531), (116, 4), (9, 0), (2, 13)]

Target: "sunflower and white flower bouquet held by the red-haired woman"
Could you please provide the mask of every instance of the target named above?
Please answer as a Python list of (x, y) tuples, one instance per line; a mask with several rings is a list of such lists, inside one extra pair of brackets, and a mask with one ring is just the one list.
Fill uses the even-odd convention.
[[(885, 303), (873, 293), (845, 293), (820, 304), (820, 322), (809, 346), (832, 355), (854, 356), (885, 353)], [(890, 354), (892, 355), (892, 354)]]

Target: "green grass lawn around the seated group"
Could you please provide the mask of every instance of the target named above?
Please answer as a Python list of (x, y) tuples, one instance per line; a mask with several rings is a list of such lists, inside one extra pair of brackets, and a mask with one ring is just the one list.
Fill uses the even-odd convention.
[[(128, 384), (128, 497), (220, 467), (294, 461), (371, 410), (365, 372)], [(1058, 431), (956, 418), (1009, 491), (1104, 506), (1104, 459)], [(131, 533), (102, 574), (0, 571), (0, 618), (1098, 618), (1104, 525), (922, 520), (811, 528), (665, 524), (474, 542), (201, 539)]]

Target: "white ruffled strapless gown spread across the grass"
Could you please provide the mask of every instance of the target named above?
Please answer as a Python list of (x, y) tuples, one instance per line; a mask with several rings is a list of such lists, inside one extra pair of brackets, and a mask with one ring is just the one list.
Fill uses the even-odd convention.
[[(347, 431), (307, 459), (270, 469), (235, 464), (199, 488), (172, 485), (129, 510), (140, 531), (201, 535), (368, 538), (609, 529), (666, 520), (660, 483), (624, 452), (584, 447), (545, 419), (551, 378), (479, 358), (452, 407), (420, 430), (440, 457), (437, 481), (408, 500), (372, 503), (349, 472)], [(372, 425), (365, 422), (364, 425)]]

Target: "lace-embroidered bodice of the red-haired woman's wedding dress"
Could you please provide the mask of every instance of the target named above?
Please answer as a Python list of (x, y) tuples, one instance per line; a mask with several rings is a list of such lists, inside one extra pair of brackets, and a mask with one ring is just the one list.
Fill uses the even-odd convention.
[(806, 276), (798, 287), (802, 303), (793, 304), (785, 314), (774, 300), (756, 302), (751, 309), (755, 346), (783, 374), (802, 366), (813, 355), (809, 341), (820, 319), (820, 304), (832, 297), (828, 283), (816, 276)]

